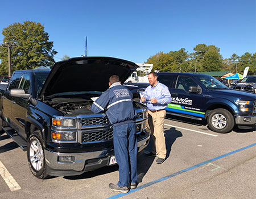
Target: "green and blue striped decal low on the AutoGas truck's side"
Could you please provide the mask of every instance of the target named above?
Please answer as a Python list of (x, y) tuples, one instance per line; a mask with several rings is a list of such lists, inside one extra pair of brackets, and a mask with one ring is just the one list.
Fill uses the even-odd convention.
[(205, 114), (204, 112), (198, 111), (199, 109), (196, 109), (194, 107), (175, 105), (173, 103), (168, 103), (166, 110), (176, 112), (176, 113), (193, 115), (193, 116), (202, 117), (202, 118), (204, 117), (204, 114)]

